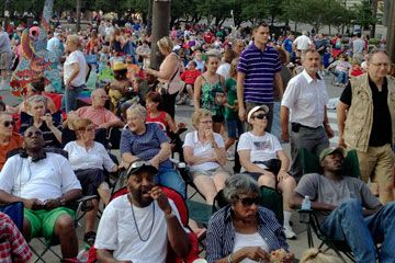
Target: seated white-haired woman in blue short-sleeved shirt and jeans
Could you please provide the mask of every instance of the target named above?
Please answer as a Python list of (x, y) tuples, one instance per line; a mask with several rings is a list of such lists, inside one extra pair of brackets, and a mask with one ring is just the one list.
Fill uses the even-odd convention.
[(149, 161), (159, 169), (156, 183), (173, 188), (185, 197), (185, 185), (169, 160), (171, 149), (163, 130), (156, 124), (146, 124), (147, 110), (142, 105), (127, 108), (126, 119), (127, 127), (121, 136), (122, 160), (126, 164), (137, 159)]

